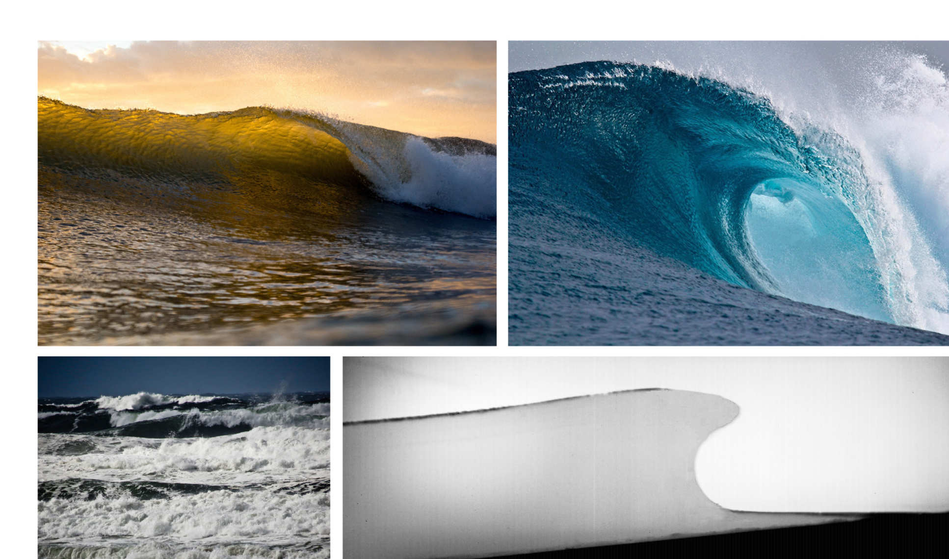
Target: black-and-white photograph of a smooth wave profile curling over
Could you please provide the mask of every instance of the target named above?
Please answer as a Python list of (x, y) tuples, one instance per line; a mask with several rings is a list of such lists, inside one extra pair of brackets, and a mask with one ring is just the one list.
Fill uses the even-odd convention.
[(946, 542), (947, 358), (363, 357), (343, 381), (347, 557)]

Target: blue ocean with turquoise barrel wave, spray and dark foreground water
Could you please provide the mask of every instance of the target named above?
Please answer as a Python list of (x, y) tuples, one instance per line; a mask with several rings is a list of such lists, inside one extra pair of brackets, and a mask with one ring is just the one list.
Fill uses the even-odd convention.
[(710, 66), (512, 73), (511, 343), (949, 342), (949, 85), (867, 64), (845, 107)]

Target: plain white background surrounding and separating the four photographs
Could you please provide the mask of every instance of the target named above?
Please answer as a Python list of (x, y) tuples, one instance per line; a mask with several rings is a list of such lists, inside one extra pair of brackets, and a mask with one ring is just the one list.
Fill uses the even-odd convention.
[[(847, 5), (849, 4), (849, 5)], [(508, 40), (837, 39), (946, 40), (947, 9), (904, 1), (886, 9), (819, 0), (682, 2), (56, 2), (10, 4), (4, 12), (5, 119), (3, 336), (5, 554), (36, 551), (37, 355), (331, 355), (332, 555), (342, 553), (340, 440), (342, 355), (440, 356), (799, 356), (949, 355), (945, 347), (555, 347), (507, 348), (507, 136), (499, 132), (497, 331), (501, 347), (39, 347), (36, 345), (36, 47), (39, 40), (498, 40), (497, 119), (507, 121)]]

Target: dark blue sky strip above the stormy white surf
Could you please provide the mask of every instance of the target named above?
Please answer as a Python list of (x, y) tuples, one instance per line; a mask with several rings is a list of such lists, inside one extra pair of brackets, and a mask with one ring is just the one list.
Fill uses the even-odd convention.
[(328, 357), (41, 357), (39, 397), (328, 392)]

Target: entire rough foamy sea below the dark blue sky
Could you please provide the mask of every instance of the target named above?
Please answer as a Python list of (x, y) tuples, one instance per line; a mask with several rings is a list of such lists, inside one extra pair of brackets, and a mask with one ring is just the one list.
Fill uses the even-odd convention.
[(329, 556), (329, 395), (41, 399), (39, 556)]

